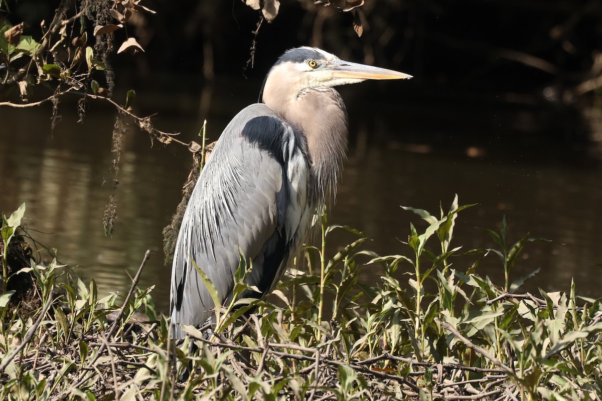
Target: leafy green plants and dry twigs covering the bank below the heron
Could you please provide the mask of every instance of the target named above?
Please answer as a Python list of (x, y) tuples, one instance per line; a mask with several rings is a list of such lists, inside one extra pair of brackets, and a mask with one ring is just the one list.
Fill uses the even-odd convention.
[[(568, 294), (518, 293), (526, 278), (512, 281), (511, 269), (510, 287), (481, 277), (483, 258), (504, 251), (452, 248), (455, 216), (466, 207), (456, 198), (441, 218), (406, 208), (427, 227), (412, 225), (402, 253), (382, 257), (360, 250), (361, 233), (328, 227), (323, 216), (320, 248), (303, 255), (309, 274), (293, 269), (273, 296), (225, 305), (211, 337), (184, 327), (176, 347), (152, 287), (137, 287), (150, 253), (127, 295), (104, 298), (93, 281), (56, 280), (64, 266), (32, 262), (43, 307), (29, 317), (0, 305), (0, 397), (602, 399), (600, 299), (578, 297), (574, 284)], [(329, 234), (341, 228), (358, 238), (328, 257)], [(362, 283), (365, 265), (382, 266), (376, 285)], [(250, 269), (241, 257), (236, 293), (249, 289)]]

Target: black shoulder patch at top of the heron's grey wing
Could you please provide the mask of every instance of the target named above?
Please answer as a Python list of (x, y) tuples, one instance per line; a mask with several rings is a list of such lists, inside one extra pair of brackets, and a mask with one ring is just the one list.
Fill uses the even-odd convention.
[(278, 118), (262, 115), (249, 120), (243, 127), (242, 135), (261, 150), (269, 152), (280, 164), (284, 164), (282, 145), (286, 129)]

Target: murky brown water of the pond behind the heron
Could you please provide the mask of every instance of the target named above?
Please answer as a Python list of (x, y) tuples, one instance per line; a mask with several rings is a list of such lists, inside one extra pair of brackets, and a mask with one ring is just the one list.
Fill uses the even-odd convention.
[[(365, 248), (377, 253), (408, 254), (399, 239), (407, 239), (409, 222), (424, 225), (400, 205), (435, 214), (440, 203), (448, 209), (458, 194), (461, 204), (478, 205), (459, 215), (453, 245), (494, 246), (475, 227), (498, 230), (505, 215), (509, 240), (530, 231), (555, 241), (527, 247), (514, 277), (541, 268), (527, 290), (568, 290), (574, 277), (582, 295), (602, 295), (596, 266), (602, 263), (599, 117), (587, 117), (592, 112), (586, 111), (565, 118), (528, 102), (488, 103), (449, 94), (374, 103), (367, 93), (379, 87), (367, 85), (342, 91), (351, 144), (330, 223), (364, 231), (370, 238)], [(214, 93), (206, 112), (199, 112), (200, 94), (194, 91), (137, 97), (146, 99), (148, 114), (160, 113), (160, 129), (180, 131), (188, 141), (207, 118), (209, 135), (216, 139), (229, 118), (255, 99), (252, 91), (239, 94), (247, 87), (232, 86), (222, 97)], [(51, 135), (48, 108), (0, 108), (0, 209), (10, 213), (25, 202), (31, 234), (56, 248), (60, 261), (84, 278), (95, 278), (105, 293), (126, 292), (128, 272), (134, 274), (151, 249), (141, 286), (155, 285), (155, 301), (165, 310), (170, 266), (163, 265), (161, 230), (180, 200), (190, 153), (175, 145), (151, 147), (146, 134), (132, 127), (121, 159), (114, 236), (105, 238), (115, 113), (93, 103), (78, 124), (73, 111), (73, 105), (61, 106), (63, 120)], [(336, 234), (330, 251), (350, 240), (350, 234)], [(468, 266), (468, 260), (454, 265), (461, 271)], [(480, 269), (502, 277), (494, 257)], [(362, 280), (374, 282), (379, 274), (367, 268)]]

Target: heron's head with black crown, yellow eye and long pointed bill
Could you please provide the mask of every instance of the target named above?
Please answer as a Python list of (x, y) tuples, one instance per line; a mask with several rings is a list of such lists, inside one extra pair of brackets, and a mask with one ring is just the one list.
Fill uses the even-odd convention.
[(276, 61), (265, 77), (262, 93), (275, 87), (287, 88), (297, 94), (309, 87), (335, 87), (367, 79), (408, 78), (412, 76), (403, 72), (341, 60), (317, 47), (297, 47)]

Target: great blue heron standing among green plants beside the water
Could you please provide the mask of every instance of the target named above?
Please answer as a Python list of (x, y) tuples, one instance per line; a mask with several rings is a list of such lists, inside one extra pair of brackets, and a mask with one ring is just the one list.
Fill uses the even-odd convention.
[[(315, 47), (285, 52), (260, 103), (230, 121), (194, 187), (172, 266), (174, 335), (199, 326), (213, 300), (192, 263), (231, 301), (240, 251), (252, 260), (247, 290), (272, 291), (299, 251), (317, 206), (334, 195), (347, 148), (347, 111), (332, 87), (411, 75), (340, 60)], [(217, 305), (218, 307), (220, 305)]]

